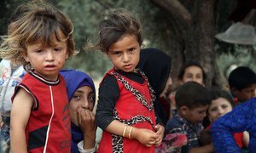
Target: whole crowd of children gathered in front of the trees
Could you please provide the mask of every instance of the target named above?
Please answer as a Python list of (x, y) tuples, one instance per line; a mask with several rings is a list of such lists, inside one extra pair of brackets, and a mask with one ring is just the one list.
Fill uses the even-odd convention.
[[(142, 48), (140, 21), (117, 8), (100, 20), (98, 42), (86, 46), (102, 50), (113, 64), (102, 77), (96, 105), (91, 77), (63, 69), (75, 54), (67, 15), (40, 0), (17, 10), (0, 48), (0, 152), (256, 149), (256, 74), (251, 69), (241, 66), (230, 73), (228, 93), (207, 89), (203, 67), (189, 61), (177, 76), (177, 88), (167, 92), (171, 57)], [(161, 100), (169, 94), (170, 103)], [(99, 143), (97, 127), (103, 131)]]

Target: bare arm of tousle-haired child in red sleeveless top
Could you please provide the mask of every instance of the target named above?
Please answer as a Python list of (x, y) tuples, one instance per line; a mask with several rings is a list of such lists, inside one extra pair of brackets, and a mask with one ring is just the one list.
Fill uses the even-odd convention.
[(26, 123), (32, 109), (32, 96), (20, 88), (15, 95), (10, 121), (10, 144), (12, 152), (26, 153)]

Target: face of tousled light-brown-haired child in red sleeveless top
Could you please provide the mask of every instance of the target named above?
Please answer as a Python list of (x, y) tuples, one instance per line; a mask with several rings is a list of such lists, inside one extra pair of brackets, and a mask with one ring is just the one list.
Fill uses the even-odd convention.
[(29, 44), (26, 47), (26, 53), (23, 53), (24, 59), (32, 65), (35, 72), (45, 79), (55, 81), (59, 71), (65, 65), (68, 58), (67, 41), (54, 41), (53, 47), (43, 48), (40, 43)]

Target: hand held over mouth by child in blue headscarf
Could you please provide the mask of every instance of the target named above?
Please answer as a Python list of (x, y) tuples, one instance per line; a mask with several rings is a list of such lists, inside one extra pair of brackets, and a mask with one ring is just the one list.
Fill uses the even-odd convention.
[(78, 110), (79, 127), (84, 133), (84, 138), (95, 139), (96, 122), (95, 114), (87, 109), (80, 108)]

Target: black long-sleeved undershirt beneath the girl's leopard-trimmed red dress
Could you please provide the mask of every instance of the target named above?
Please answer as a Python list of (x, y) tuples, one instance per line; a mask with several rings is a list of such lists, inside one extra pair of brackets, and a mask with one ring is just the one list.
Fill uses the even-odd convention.
[[(117, 72), (135, 82), (143, 83), (144, 78), (131, 72), (118, 71)], [(96, 124), (103, 130), (113, 122), (113, 108), (116, 101), (119, 99), (119, 85), (115, 77), (107, 76), (103, 79), (99, 88), (99, 99), (96, 108)], [(104, 98), (104, 99), (102, 99)]]

